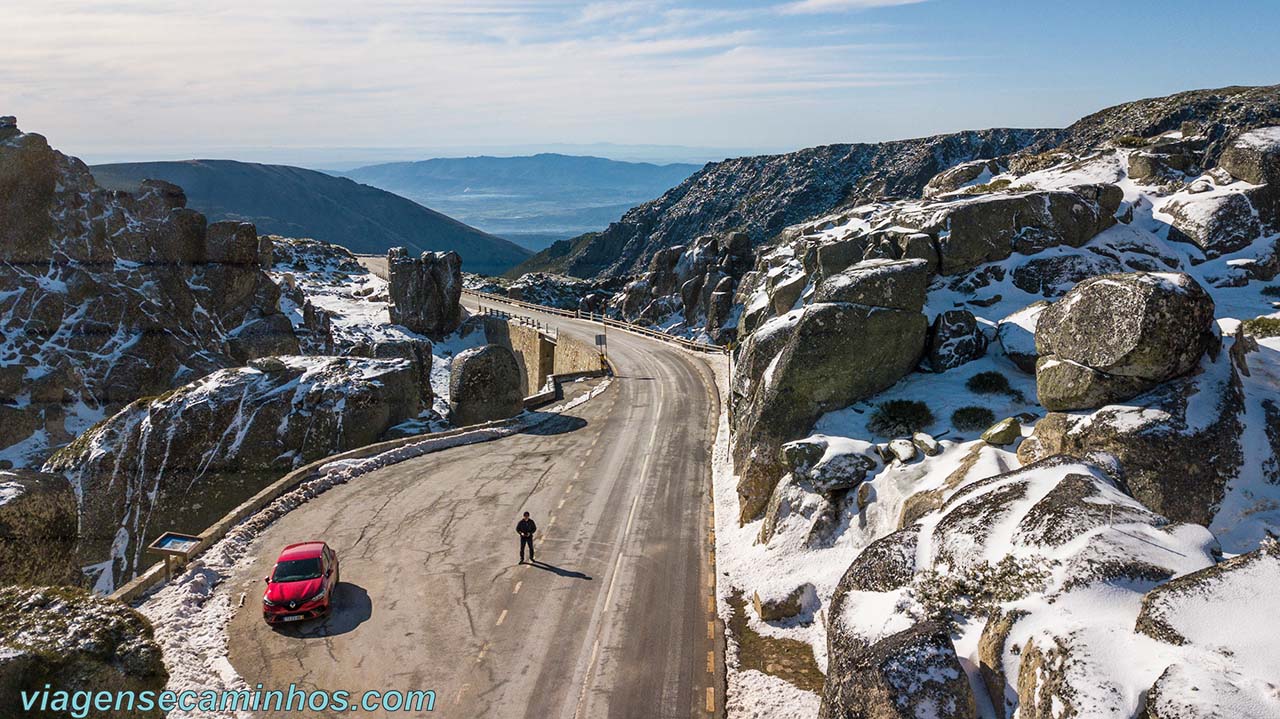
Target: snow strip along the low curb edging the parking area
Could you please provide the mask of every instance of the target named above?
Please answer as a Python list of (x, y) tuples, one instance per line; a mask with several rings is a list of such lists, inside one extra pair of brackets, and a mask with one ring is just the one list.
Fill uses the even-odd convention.
[[(554, 407), (525, 412), (500, 427), (466, 431), (453, 436), (428, 436), (360, 461), (335, 461), (321, 466), (316, 478), (282, 495), (259, 513), (248, 517), (192, 562), (168, 585), (148, 595), (138, 610), (151, 620), (155, 640), (164, 652), (169, 670), (166, 688), (173, 691), (221, 691), (246, 688), (247, 684), (228, 659), (227, 623), (234, 608), (225, 580), (234, 576), (252, 559), (253, 542), (273, 522), (324, 494), (362, 475), (451, 446), (489, 441), (526, 431), (548, 418), (567, 412), (608, 389), (605, 379), (589, 393), (582, 393)], [(170, 713), (173, 719), (224, 719), (224, 713)], [(237, 719), (250, 719), (238, 713)]]

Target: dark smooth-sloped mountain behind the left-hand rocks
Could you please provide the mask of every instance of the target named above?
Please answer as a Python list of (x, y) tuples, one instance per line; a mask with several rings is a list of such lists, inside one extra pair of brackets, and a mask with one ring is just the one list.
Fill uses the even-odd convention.
[(530, 252), (375, 187), (287, 165), (233, 160), (93, 165), (99, 184), (136, 189), (143, 179), (180, 186), (191, 207), (210, 221), (244, 220), (264, 234), (310, 237), (360, 253), (390, 247), (411, 252), (453, 249), (467, 271), (500, 274)]

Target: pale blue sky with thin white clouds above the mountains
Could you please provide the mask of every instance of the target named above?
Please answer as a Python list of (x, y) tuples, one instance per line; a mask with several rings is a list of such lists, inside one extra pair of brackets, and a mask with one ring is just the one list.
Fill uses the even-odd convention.
[(1275, 1), (5, 5), (0, 114), (91, 161), (781, 151), (1280, 82)]

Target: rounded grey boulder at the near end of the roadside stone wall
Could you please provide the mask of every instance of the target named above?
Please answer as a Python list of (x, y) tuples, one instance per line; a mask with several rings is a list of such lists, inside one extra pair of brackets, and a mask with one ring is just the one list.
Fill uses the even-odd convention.
[(449, 367), (449, 418), (465, 426), (515, 417), (525, 408), (521, 376), (516, 356), (500, 344), (460, 352)]

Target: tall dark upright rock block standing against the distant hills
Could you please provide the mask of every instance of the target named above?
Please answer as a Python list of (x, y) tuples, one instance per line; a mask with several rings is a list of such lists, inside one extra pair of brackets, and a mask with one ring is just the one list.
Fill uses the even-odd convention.
[(410, 257), (404, 248), (387, 253), (390, 319), (411, 331), (439, 340), (462, 324), (462, 258), (457, 252), (424, 252)]

